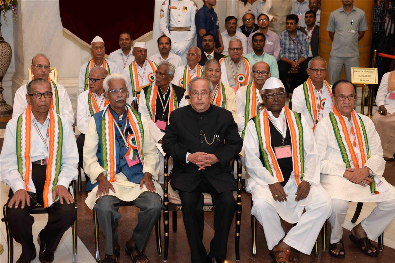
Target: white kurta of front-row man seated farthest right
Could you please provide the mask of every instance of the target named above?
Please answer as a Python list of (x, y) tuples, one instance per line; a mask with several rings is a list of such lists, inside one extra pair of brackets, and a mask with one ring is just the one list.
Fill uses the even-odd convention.
[[(376, 195), (370, 192), (369, 186), (364, 187), (354, 184), (343, 177), (346, 171), (346, 164), (340, 153), (329, 116), (318, 122), (314, 131), (314, 138), (317, 143), (318, 153), (320, 154), (321, 184), (332, 199), (375, 203), (394, 199), (395, 187), (389, 184), (382, 176), (386, 162), (383, 159), (380, 137), (374, 129), (371, 119), (368, 116), (357, 114), (362, 118), (362, 122), (365, 125), (369, 144), (370, 158), (366, 161), (365, 166), (369, 167), (389, 189), (384, 193)], [(351, 134), (352, 122), (349, 122), (347, 117), (342, 117), (346, 122), (349, 134)], [(354, 141), (354, 137), (350, 137), (350, 139)], [(358, 140), (356, 140), (356, 143), (358, 143)], [(361, 158), (359, 158), (359, 167), (363, 167)]]

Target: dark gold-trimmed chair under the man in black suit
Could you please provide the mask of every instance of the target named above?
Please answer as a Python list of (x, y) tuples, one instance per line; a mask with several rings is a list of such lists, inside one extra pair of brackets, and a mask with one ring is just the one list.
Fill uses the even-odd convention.
[[(169, 211), (173, 212), (173, 232), (177, 231), (177, 211), (181, 211), (182, 204), (180, 197), (177, 193), (169, 185), (170, 175), (167, 173), (167, 163), (169, 161), (170, 156), (166, 154), (164, 159), (164, 201), (163, 205), (165, 210), (164, 214), (164, 232), (165, 232), (165, 253), (164, 253), (164, 261), (167, 261), (167, 255), (169, 250)], [(233, 192), (236, 199), (236, 238), (235, 238), (235, 253), (236, 253), (236, 261), (240, 260), (240, 227), (241, 227), (241, 211), (242, 211), (242, 201), (241, 201), (241, 192), (242, 192), (242, 184), (241, 184), (241, 159), (239, 156), (236, 156), (234, 159), (237, 167), (237, 191)], [(234, 171), (234, 162), (232, 163), (232, 171)], [(211, 201), (211, 195), (208, 193), (203, 193), (204, 195), (204, 212), (213, 212), (214, 205)], [(170, 200), (169, 200), (170, 199)]]

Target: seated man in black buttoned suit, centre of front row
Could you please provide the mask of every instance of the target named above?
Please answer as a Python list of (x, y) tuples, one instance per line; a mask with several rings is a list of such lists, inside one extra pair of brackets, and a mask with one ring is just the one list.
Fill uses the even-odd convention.
[[(192, 262), (222, 262), (235, 214), (236, 181), (229, 162), (243, 146), (230, 111), (210, 103), (211, 81), (190, 81), (191, 105), (176, 109), (163, 137), (164, 152), (173, 157), (171, 186), (179, 191), (182, 218)], [(203, 192), (211, 194), (214, 238), (207, 256), (203, 245)]]

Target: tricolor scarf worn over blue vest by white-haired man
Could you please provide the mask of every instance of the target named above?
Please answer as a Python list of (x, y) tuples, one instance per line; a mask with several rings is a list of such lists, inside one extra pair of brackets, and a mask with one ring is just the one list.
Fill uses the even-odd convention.
[[(117, 128), (114, 126), (114, 117), (111, 114), (109, 109), (110, 105), (103, 111), (102, 115), (102, 138), (100, 138), (99, 143), (102, 147), (102, 160), (103, 160), (103, 168), (107, 172), (105, 177), (110, 182), (115, 182), (115, 173), (117, 171), (117, 161), (115, 160), (116, 152), (115, 152), (115, 131)], [(144, 166), (144, 156), (143, 156), (143, 142), (144, 142), (144, 129), (143, 123), (141, 122), (141, 118), (137, 111), (132, 108), (132, 106), (126, 104), (126, 108), (128, 111), (128, 122), (130, 128), (135, 135), (135, 141), (137, 144), (137, 152), (140, 156), (141, 163)], [(126, 124), (125, 124), (126, 125)], [(128, 142), (128, 144), (130, 144)], [(132, 147), (132, 145), (129, 145)]]

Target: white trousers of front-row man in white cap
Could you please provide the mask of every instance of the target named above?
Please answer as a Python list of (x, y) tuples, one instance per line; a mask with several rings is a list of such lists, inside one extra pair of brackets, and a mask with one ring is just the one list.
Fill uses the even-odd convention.
[[(325, 191), (324, 188), (322, 190)], [(289, 197), (291, 196), (288, 196), (287, 202), (291, 201)], [(272, 202), (273, 197), (271, 198), (272, 200), (264, 198), (255, 200), (251, 209), (251, 214), (263, 226), (269, 250), (272, 250), (285, 235), (281, 226), (280, 216), (278, 216), (275, 205)], [(293, 198), (295, 198), (295, 195), (293, 195)], [(326, 192), (315, 195), (312, 200), (305, 206), (306, 212), (301, 215), (297, 225), (292, 227), (284, 238), (286, 244), (308, 255), (311, 254), (322, 225), (324, 225), (331, 212), (330, 198)], [(290, 212), (292, 213), (293, 211)]]

